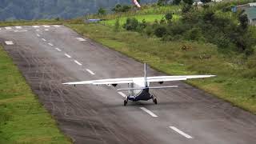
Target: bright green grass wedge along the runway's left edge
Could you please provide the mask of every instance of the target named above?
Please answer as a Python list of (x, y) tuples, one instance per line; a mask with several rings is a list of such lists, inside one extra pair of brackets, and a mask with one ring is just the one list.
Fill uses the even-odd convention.
[(0, 143), (71, 143), (0, 46)]

